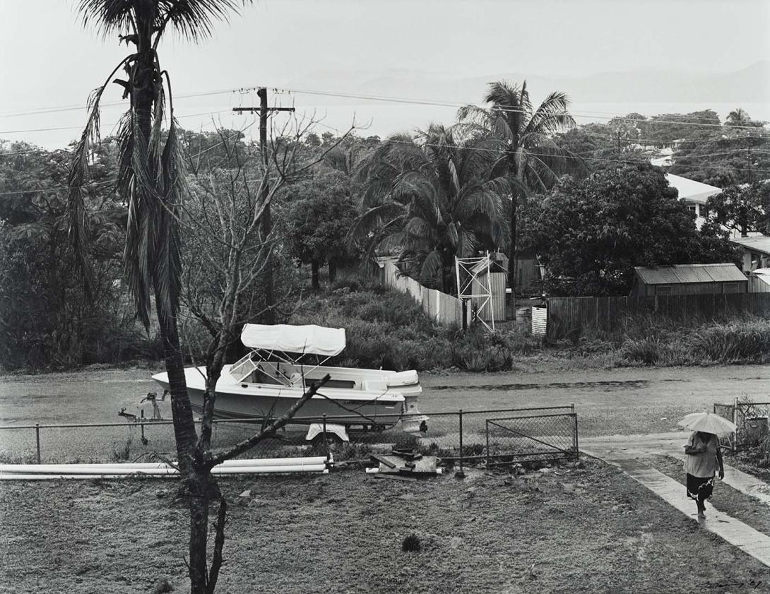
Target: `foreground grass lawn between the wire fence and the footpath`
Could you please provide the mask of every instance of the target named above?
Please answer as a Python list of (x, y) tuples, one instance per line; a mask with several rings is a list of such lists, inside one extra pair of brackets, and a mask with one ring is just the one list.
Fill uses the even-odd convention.
[[(230, 479), (219, 592), (696, 592), (770, 570), (618, 469)], [(558, 472), (558, 474), (557, 474)], [(0, 592), (187, 589), (170, 482), (0, 483)], [(252, 489), (250, 499), (239, 492)], [(159, 491), (160, 490), (160, 491)], [(159, 494), (161, 495), (159, 497)], [(684, 496), (684, 494), (683, 494)], [(403, 552), (410, 534), (422, 552)], [(726, 592), (725, 589), (714, 590)]]

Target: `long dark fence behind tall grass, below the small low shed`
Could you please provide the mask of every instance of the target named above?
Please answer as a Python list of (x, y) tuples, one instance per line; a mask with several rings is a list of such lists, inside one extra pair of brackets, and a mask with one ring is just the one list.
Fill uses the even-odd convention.
[(631, 315), (654, 313), (679, 322), (740, 318), (747, 314), (770, 318), (770, 293), (705, 293), (630, 297), (551, 297), (547, 299), (549, 339), (574, 332), (621, 329)]

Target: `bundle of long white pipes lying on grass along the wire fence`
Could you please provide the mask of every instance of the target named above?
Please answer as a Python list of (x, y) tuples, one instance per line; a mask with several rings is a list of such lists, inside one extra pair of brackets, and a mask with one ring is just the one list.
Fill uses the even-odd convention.
[[(15, 466), (15, 468), (8, 469), (7, 466)], [(0, 475), (5, 474), (61, 474), (61, 475), (93, 475), (93, 474), (109, 474), (113, 476), (128, 476), (128, 475), (146, 475), (146, 476), (173, 476), (178, 475), (179, 471), (169, 467), (164, 468), (132, 468), (130, 465), (124, 465), (122, 468), (115, 468), (115, 466), (109, 466), (107, 468), (100, 467), (98, 464), (92, 464), (87, 468), (82, 466), (79, 468), (72, 468), (75, 465), (67, 464), (18, 464), (18, 465), (3, 465), (0, 468)], [(268, 472), (320, 472), (326, 469), (325, 464), (292, 464), (285, 466), (225, 466), (219, 468), (215, 466), (212, 469), (212, 474), (251, 474), (251, 473), (268, 473)]]

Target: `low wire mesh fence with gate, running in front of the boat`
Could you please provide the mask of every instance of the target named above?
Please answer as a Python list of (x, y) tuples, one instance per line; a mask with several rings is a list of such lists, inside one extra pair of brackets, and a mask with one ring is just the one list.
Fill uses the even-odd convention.
[[(419, 428), (423, 420), (425, 430), (405, 431)], [(234, 446), (259, 432), (263, 422), (217, 419), (212, 446)], [(313, 433), (318, 435), (309, 441)], [(349, 441), (340, 442), (340, 435)], [(541, 446), (533, 448), (534, 443)], [(398, 415), (375, 423), (360, 415), (335, 415), (334, 423), (323, 417), (295, 417), (275, 438), (259, 442), (243, 457), (283, 458), (333, 451), (337, 459), (350, 459), (393, 448), (416, 449), (450, 461), (556, 459), (567, 452), (577, 456), (577, 415), (574, 405), (564, 405)], [(171, 421), (0, 426), (2, 462), (122, 462), (174, 456)]]

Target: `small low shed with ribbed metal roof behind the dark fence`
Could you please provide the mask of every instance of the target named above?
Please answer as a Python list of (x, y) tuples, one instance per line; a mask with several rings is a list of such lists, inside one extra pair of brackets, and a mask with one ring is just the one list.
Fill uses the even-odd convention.
[(745, 293), (748, 279), (735, 264), (677, 264), (634, 268), (631, 295)]

